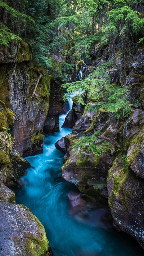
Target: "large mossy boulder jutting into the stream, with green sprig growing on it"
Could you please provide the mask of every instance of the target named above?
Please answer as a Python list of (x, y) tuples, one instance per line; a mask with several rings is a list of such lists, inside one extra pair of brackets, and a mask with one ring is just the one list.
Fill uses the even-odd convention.
[[(90, 121), (91, 114), (91, 121)], [(84, 128), (84, 120), (87, 130)], [(79, 127), (80, 131), (75, 132), (75, 127)], [(99, 109), (98, 112), (89, 111), (78, 120), (73, 127), (73, 134), (66, 136), (65, 144), (67, 153), (64, 157), (64, 165), (62, 167), (63, 177), (77, 185), (82, 193), (93, 196), (107, 197), (107, 176), (109, 167), (115, 159), (115, 139), (118, 130), (118, 120), (112, 113)], [(102, 145), (105, 140), (110, 142), (109, 145), (103, 147), (103, 152), (100, 155), (94, 155), (89, 151), (83, 151), (81, 147), (73, 150), (73, 146), (78, 143), (78, 140), (86, 134), (93, 133), (96, 130), (102, 131), (99, 136), (98, 145)], [(82, 133), (84, 130), (84, 133)], [(77, 129), (78, 131), (78, 129)]]

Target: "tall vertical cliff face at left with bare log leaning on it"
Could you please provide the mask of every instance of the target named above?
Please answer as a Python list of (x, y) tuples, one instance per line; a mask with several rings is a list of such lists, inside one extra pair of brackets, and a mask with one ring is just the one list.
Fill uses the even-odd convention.
[(42, 129), (48, 113), (48, 93), (52, 76), (43, 75), (31, 99), (42, 69), (26, 62), (17, 64), (14, 72), (12, 67), (13, 64), (0, 67), (0, 99), (17, 116), (12, 125), (14, 149), (24, 157), (42, 153)]

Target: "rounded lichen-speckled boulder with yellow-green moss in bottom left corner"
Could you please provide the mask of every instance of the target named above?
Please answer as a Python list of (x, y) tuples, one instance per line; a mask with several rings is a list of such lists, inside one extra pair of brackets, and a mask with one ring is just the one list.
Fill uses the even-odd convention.
[(27, 207), (0, 202), (0, 211), (1, 256), (50, 255), (44, 227)]

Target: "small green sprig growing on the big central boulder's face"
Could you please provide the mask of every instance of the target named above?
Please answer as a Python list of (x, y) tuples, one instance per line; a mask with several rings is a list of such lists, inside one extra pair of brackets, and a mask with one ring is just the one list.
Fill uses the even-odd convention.
[(94, 131), (91, 135), (85, 135), (82, 136), (76, 143), (73, 145), (73, 150), (80, 149), (80, 152), (78, 152), (79, 156), (81, 156), (82, 152), (89, 152), (95, 156), (99, 156), (102, 152), (104, 152), (103, 146), (108, 146), (110, 143), (103, 142), (100, 145), (97, 143), (100, 142), (99, 136), (101, 135), (100, 131)]

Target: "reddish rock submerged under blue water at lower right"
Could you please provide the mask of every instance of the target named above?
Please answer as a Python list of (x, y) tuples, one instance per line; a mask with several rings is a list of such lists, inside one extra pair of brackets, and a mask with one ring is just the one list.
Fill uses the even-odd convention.
[(103, 229), (112, 228), (112, 215), (106, 200), (100, 203), (78, 190), (69, 193), (68, 198), (70, 202), (69, 214), (72, 217), (82, 223)]

